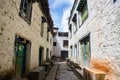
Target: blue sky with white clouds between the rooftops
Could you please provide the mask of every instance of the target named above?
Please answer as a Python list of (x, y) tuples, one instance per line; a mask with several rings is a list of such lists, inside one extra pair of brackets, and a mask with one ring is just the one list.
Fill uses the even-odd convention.
[(59, 31), (68, 31), (68, 18), (74, 0), (48, 0), (50, 14), (54, 21), (54, 27), (58, 27)]

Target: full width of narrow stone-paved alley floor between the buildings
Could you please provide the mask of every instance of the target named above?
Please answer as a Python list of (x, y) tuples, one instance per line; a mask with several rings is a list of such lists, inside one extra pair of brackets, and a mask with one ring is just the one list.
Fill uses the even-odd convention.
[(46, 80), (80, 80), (66, 62), (57, 62)]

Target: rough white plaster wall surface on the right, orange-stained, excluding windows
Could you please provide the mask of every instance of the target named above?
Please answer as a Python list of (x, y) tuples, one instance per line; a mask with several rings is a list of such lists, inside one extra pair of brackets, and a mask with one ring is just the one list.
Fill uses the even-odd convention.
[[(120, 79), (120, 1), (87, 0), (88, 18), (70, 39), (78, 43), (90, 33), (91, 67), (107, 74), (106, 80)], [(79, 50), (79, 52), (81, 52)]]

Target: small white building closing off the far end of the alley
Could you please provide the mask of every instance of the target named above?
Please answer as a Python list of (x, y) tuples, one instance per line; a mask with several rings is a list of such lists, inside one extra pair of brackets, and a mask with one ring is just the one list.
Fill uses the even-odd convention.
[(68, 32), (59, 32), (58, 28), (54, 28), (53, 31), (53, 56), (65, 60), (68, 57)]

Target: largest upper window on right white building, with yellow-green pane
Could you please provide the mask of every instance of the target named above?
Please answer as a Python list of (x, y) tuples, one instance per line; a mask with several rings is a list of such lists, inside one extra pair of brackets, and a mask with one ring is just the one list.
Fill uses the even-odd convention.
[(77, 10), (81, 12), (81, 19), (83, 23), (88, 17), (87, 0), (80, 0)]

